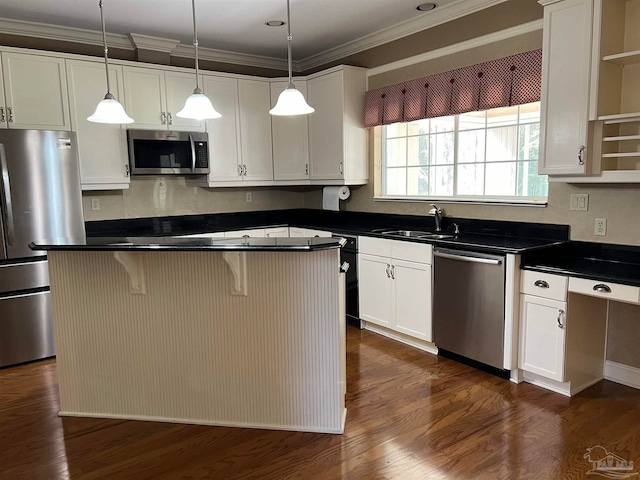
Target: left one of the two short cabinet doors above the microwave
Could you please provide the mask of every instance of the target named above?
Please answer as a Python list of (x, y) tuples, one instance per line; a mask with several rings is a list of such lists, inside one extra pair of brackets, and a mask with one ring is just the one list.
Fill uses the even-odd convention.
[(122, 74), (124, 108), (135, 121), (130, 128), (167, 128), (164, 72), (153, 68), (123, 67)]

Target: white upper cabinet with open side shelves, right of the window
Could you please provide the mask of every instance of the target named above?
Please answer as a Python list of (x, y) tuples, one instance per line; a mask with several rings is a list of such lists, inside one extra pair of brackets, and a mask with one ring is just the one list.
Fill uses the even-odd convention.
[(545, 6), (540, 173), (640, 182), (640, 0)]

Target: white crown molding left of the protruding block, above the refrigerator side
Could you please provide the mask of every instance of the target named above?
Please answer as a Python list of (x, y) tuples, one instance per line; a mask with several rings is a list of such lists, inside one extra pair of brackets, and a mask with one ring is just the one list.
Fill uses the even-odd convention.
[[(0, 33), (102, 46), (102, 32), (97, 30), (61, 27), (60, 25), (25, 22), (21, 20), (11, 20), (9, 18), (0, 18)], [(107, 33), (107, 44), (112, 48), (133, 50), (131, 41), (126, 35)]]

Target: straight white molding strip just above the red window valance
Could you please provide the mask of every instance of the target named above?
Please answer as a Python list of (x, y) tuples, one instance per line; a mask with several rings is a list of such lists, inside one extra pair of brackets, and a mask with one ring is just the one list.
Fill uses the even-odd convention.
[(533, 22), (523, 23), (522, 25), (518, 25), (517, 27), (505, 28), (504, 30), (500, 30), (494, 33), (489, 33), (487, 35), (483, 35), (481, 37), (477, 37), (472, 40), (467, 40), (465, 42), (456, 43), (454, 45), (449, 45), (447, 47), (438, 48), (437, 50), (432, 50), (430, 52), (414, 55), (413, 57), (403, 58), (402, 60), (387, 63), (385, 65), (380, 65), (379, 67), (370, 68), (367, 71), (367, 77), (373, 77), (374, 75), (378, 75), (380, 73), (389, 72), (391, 70), (397, 70), (399, 68), (404, 68), (411, 65), (415, 65), (417, 63), (433, 60), (435, 58), (444, 57), (446, 55), (452, 55), (454, 53), (463, 52), (465, 50), (481, 47), (483, 45), (499, 42), (501, 40), (507, 40), (509, 38), (517, 37), (519, 35), (524, 35), (525, 33), (542, 30), (542, 27), (543, 27), (543, 20), (540, 19), (540, 20), (534, 20)]

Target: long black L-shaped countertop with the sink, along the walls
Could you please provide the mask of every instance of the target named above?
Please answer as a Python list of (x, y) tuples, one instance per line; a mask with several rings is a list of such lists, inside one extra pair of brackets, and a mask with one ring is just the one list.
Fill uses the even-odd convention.
[(567, 225), (528, 222), (504, 222), (445, 217), (443, 232), (452, 234), (453, 223), (460, 226), (457, 236), (444, 240), (399, 238), (380, 233), (381, 230), (411, 229), (435, 231), (433, 217), (364, 212), (333, 212), (326, 210), (292, 209), (258, 212), (186, 215), (124, 220), (87, 222), (87, 235), (93, 236), (155, 236), (189, 235), (225, 230), (291, 226), (329, 230), (335, 235), (364, 235), (432, 243), (443, 247), (480, 250), (497, 253), (523, 253), (564, 243), (569, 238)]

